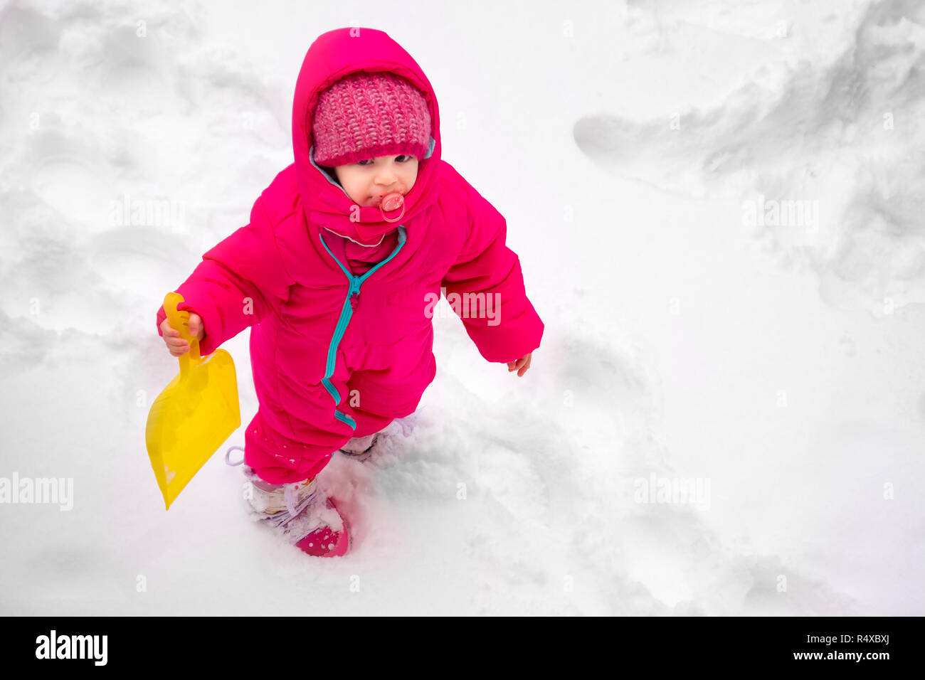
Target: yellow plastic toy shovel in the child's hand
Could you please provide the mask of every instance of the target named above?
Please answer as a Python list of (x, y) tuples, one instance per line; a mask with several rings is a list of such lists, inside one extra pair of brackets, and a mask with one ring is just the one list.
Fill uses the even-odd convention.
[(179, 376), (157, 395), (144, 431), (167, 510), (222, 442), (240, 427), (238, 378), (231, 355), (225, 350), (204, 358), (199, 355), (199, 339), (190, 335), (190, 313), (177, 311), (182, 302), (178, 292), (168, 292), (164, 311), (170, 326), (190, 343), (190, 351), (179, 356)]

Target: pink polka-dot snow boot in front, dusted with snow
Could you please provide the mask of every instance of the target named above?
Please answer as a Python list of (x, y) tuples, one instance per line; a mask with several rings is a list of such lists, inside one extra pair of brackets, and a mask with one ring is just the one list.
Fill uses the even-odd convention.
[[(228, 454), (240, 446), (232, 446)], [(247, 507), (254, 520), (270, 526), (290, 544), (315, 557), (339, 557), (350, 549), (350, 526), (334, 501), (318, 487), (317, 476), (293, 484), (271, 484), (243, 465)]]

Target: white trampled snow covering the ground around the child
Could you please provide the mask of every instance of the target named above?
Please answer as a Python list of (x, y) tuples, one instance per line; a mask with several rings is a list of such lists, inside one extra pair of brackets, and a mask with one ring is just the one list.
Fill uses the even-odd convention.
[[(354, 549), (318, 560), (247, 520), (242, 430), (169, 512), (143, 431), (157, 304), (351, 24), (425, 69), (546, 333), (516, 377), (438, 314), (418, 412), (319, 478)], [(913, 0), (0, 3), (0, 476), (73, 480), (0, 507), (0, 612), (925, 613), (923, 51)]]

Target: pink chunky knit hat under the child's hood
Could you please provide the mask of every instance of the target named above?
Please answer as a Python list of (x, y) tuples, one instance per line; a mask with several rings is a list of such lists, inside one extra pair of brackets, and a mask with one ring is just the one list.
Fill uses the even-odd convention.
[(422, 160), (430, 146), (430, 112), (424, 94), (409, 80), (385, 71), (358, 71), (318, 95), (312, 136), (319, 166), (380, 155)]

